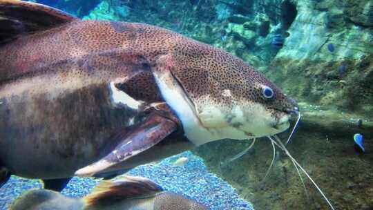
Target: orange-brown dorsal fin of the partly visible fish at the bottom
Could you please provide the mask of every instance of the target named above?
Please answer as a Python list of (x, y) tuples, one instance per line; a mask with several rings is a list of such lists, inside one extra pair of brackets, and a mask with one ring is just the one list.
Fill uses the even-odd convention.
[(124, 180), (100, 182), (93, 193), (83, 200), (87, 207), (94, 207), (130, 198), (147, 197), (160, 191), (163, 191), (162, 187), (152, 180), (126, 176)]

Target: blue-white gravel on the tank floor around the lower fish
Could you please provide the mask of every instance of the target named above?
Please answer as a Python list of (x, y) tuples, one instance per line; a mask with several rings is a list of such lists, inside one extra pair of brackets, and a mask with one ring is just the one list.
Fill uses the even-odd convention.
[[(185, 166), (174, 166), (173, 162), (181, 157), (188, 158), (189, 162)], [(231, 185), (210, 173), (203, 160), (191, 152), (175, 155), (158, 164), (138, 166), (128, 175), (150, 178), (165, 190), (187, 195), (213, 210), (254, 209), (249, 202), (238, 197)], [(90, 193), (98, 182), (92, 178), (73, 178), (62, 193), (70, 197), (82, 197)], [(33, 188), (41, 188), (41, 182), (13, 176), (0, 189), (0, 208), (6, 209), (21, 193)]]

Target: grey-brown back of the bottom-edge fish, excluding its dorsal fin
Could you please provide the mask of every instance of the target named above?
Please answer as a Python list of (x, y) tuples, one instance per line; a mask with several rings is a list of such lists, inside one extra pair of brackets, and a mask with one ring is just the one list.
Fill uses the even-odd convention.
[(55, 191), (38, 189), (28, 191), (26, 195), (16, 200), (10, 210), (209, 210), (203, 204), (167, 191), (142, 196), (87, 206), (77, 198), (68, 198)]

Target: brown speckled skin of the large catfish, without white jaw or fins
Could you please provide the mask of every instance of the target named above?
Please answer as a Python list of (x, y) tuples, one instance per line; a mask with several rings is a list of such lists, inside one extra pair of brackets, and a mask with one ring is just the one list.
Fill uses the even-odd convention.
[(141, 23), (72, 21), (0, 48), (0, 160), (16, 175), (63, 178), (102, 158), (117, 129), (142, 120), (113, 104), (108, 84), (145, 104), (164, 102), (151, 70), (165, 55), (195, 110), (216, 104), (231, 126), (242, 126), (229, 115), (236, 105), (260, 104), (274, 119), (296, 106), (223, 50)]

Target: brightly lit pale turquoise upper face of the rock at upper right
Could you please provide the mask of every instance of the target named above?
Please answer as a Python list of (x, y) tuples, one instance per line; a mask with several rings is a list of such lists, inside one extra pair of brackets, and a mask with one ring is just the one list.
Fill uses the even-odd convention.
[[(299, 1), (298, 16), (288, 30), (287, 46), (278, 57), (330, 61), (346, 57), (358, 59), (372, 54), (369, 30), (345, 27), (343, 8), (338, 6), (339, 3), (336, 3), (328, 12), (323, 12), (312, 10), (309, 3)], [(334, 53), (328, 52), (327, 43), (334, 44)]]

